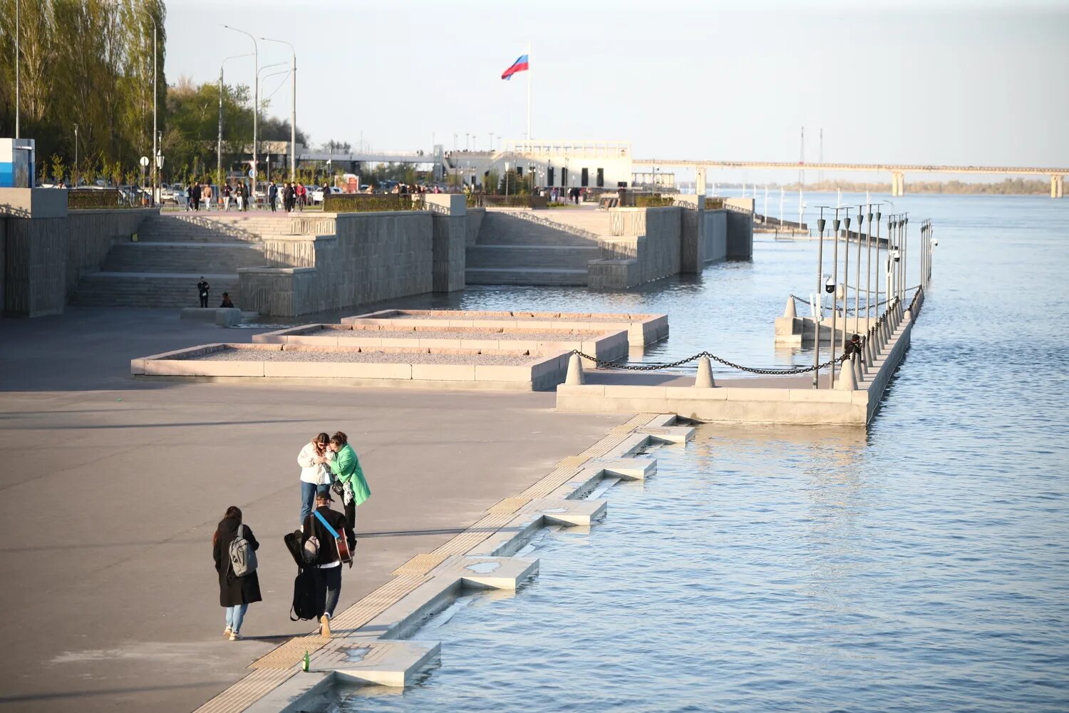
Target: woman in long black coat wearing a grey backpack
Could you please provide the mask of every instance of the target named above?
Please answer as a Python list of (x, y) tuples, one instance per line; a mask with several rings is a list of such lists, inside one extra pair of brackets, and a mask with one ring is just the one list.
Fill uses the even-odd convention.
[(257, 576), (259, 548), (252, 529), (242, 523), (242, 511), (233, 505), (227, 508), (212, 536), (212, 553), (219, 574), (219, 604), (227, 608), (227, 629), (222, 635), (231, 641), (242, 638), (242, 621), (249, 604), (262, 601)]

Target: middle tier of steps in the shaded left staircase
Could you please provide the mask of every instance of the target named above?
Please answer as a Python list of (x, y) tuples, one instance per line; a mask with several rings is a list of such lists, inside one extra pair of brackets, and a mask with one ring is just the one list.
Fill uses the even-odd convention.
[(106, 273), (236, 274), (238, 267), (266, 264), (258, 246), (234, 241), (120, 243), (100, 267)]

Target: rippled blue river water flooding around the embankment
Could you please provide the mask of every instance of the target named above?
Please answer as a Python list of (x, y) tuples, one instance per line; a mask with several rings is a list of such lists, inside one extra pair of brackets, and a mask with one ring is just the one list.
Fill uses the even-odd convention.
[[(546, 536), (517, 595), (416, 637), (443, 641), (421, 683), (338, 710), (1069, 710), (1069, 202), (895, 202), (940, 244), (867, 432), (707, 424), (651, 451), (657, 475), (610, 489), (589, 532)], [(814, 244), (758, 236), (753, 262), (636, 292), (421, 306), (667, 312), (636, 360), (783, 366), (811, 353), (774, 351), (773, 319), (815, 281)]]

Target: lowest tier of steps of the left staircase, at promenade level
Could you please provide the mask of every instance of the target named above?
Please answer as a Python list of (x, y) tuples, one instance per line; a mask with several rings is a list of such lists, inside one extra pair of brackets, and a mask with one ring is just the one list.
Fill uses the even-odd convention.
[[(89, 273), (78, 281), (72, 305), (94, 307), (199, 307), (200, 273)], [(204, 275), (212, 285), (210, 307), (217, 307), (222, 293), (237, 301), (237, 275)]]

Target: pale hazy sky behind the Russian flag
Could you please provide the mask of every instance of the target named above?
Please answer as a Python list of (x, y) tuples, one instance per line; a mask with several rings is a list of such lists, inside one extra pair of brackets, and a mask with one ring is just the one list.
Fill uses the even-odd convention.
[[(825, 160), (1069, 165), (1067, 2), (739, 4), (170, 0), (167, 76), (217, 80), (251, 51), (233, 25), (294, 44), (313, 144), (486, 149), (524, 137), (526, 77), (499, 76), (530, 42), (536, 139), (793, 161), (804, 125), (810, 159), (823, 127)], [(289, 60), (260, 43), (261, 66)], [(227, 73), (251, 83), (251, 58)]]

